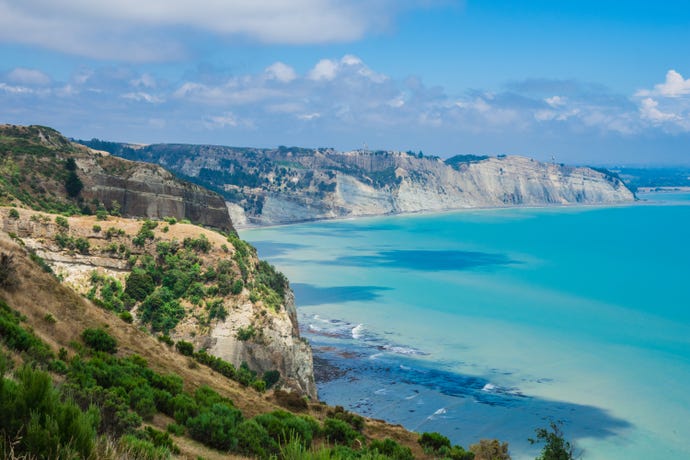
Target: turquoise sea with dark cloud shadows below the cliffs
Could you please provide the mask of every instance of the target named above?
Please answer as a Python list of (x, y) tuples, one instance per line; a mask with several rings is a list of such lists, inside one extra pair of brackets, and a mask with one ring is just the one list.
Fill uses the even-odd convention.
[(690, 194), (243, 230), (290, 279), (319, 398), (514, 459), (690, 458)]

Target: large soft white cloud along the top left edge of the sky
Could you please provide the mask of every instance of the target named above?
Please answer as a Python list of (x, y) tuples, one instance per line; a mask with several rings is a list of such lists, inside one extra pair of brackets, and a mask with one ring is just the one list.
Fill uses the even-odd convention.
[(179, 58), (180, 28), (263, 43), (348, 42), (424, 0), (0, 0), (0, 42), (125, 61)]

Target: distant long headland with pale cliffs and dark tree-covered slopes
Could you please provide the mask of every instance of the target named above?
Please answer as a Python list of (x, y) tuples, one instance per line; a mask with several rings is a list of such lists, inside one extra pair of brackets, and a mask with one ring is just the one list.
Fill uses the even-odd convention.
[(130, 145), (79, 141), (157, 163), (228, 201), (236, 225), (515, 205), (612, 204), (634, 195), (604, 170), (514, 156)]

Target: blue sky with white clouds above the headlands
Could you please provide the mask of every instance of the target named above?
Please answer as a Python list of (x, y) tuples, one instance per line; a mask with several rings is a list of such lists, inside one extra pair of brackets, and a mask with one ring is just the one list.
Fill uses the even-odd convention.
[(690, 164), (686, 0), (0, 0), (0, 123)]

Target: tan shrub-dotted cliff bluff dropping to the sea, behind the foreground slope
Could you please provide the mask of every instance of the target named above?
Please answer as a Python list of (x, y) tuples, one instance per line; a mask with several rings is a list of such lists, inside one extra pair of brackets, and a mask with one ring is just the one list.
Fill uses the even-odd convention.
[[(316, 398), (311, 348), (299, 336), (287, 281), (236, 237), (191, 224), (56, 220), (16, 208), (0, 208), (0, 219), (2, 232), (96, 305), (128, 312), (152, 333), (189, 341), (237, 368), (244, 362), (259, 376), (277, 370), (283, 387)], [(142, 228), (148, 235), (138, 240)], [(143, 276), (151, 286), (137, 296), (132, 286)], [(265, 283), (284, 283), (282, 297)], [(247, 330), (254, 332), (243, 337)]]

